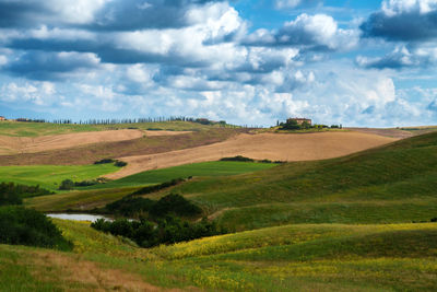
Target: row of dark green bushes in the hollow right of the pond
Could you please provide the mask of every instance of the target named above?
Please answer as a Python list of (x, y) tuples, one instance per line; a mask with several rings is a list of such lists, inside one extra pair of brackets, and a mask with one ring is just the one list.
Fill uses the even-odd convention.
[(156, 222), (145, 219), (140, 221), (118, 219), (113, 222), (99, 219), (92, 223), (91, 226), (113, 235), (128, 237), (141, 247), (174, 244), (226, 233), (226, 230), (218, 227), (215, 222), (210, 222), (206, 219), (191, 223), (172, 215), (167, 215)]

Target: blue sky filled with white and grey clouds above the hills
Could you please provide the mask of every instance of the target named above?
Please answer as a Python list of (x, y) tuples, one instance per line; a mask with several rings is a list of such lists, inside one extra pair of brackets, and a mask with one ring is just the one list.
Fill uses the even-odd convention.
[(0, 116), (437, 125), (437, 0), (0, 0)]

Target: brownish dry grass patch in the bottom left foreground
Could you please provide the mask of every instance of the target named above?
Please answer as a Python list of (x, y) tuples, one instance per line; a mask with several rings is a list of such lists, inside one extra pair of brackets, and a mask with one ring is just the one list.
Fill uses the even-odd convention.
[(56, 277), (57, 282), (66, 282), (74, 287), (74, 291), (181, 291), (152, 285), (144, 282), (138, 275), (122, 270), (103, 269), (95, 262), (83, 260), (79, 256), (70, 257), (45, 252), (32, 253), (31, 256), (35, 266), (47, 267), (49, 271), (56, 272), (56, 275), (46, 275), (46, 272), (40, 275), (43, 269), (35, 269), (35, 277), (43, 281), (52, 280), (52, 277)]

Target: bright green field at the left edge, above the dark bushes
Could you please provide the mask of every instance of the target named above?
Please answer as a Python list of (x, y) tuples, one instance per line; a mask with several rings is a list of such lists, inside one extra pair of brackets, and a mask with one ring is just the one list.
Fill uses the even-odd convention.
[(97, 178), (118, 170), (119, 167), (113, 164), (0, 166), (0, 182), (13, 182), (31, 186), (39, 185), (46, 189), (57, 190), (63, 179), (81, 182)]

